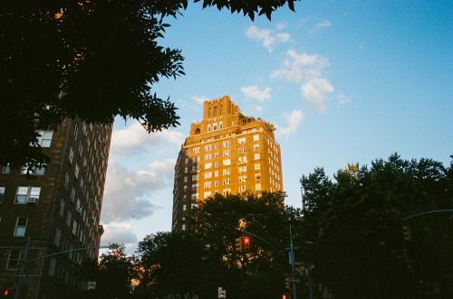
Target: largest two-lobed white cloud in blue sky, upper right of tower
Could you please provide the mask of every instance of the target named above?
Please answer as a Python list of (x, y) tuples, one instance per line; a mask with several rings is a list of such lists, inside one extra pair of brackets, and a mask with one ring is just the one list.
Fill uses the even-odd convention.
[(299, 54), (294, 50), (287, 51), (286, 56), (280, 69), (271, 73), (271, 78), (302, 83), (302, 96), (318, 111), (323, 111), (327, 94), (333, 92), (332, 84), (322, 78), (329, 61), (318, 54)]

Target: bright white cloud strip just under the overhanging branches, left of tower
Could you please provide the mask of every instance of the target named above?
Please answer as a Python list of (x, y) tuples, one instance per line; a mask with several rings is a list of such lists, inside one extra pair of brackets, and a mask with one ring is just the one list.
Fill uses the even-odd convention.
[(148, 134), (139, 122), (134, 122), (122, 130), (114, 130), (111, 136), (111, 145), (116, 150), (125, 150), (143, 145), (161, 145), (170, 143), (181, 145), (184, 143), (184, 135), (180, 132), (162, 130)]

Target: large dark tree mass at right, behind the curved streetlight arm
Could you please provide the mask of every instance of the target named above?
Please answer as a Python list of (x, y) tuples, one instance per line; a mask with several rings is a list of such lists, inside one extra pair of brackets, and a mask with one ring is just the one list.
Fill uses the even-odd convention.
[(451, 297), (451, 214), (402, 220), (428, 210), (453, 208), (451, 168), (430, 159), (392, 154), (371, 168), (348, 164), (332, 181), (317, 168), (301, 179), (304, 244), (315, 280), (335, 298), (413, 298), (440, 290)]

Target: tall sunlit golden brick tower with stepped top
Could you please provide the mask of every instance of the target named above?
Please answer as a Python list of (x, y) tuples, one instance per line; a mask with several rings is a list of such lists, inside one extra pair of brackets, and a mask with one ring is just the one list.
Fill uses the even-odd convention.
[(175, 165), (172, 230), (215, 193), (283, 191), (280, 145), (263, 119), (244, 117), (228, 97), (206, 101)]

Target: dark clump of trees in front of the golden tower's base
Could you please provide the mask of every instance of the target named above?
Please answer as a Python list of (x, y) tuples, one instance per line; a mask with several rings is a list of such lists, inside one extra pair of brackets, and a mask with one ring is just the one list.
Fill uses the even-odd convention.
[[(140, 242), (144, 273), (137, 292), (147, 298), (213, 298), (222, 287), (231, 298), (279, 298), (288, 273), (289, 224), (296, 229), (300, 216), (284, 207), (283, 192), (216, 194), (199, 203), (188, 231), (160, 232)], [(237, 252), (241, 229), (268, 243), (249, 236), (250, 250)]]

